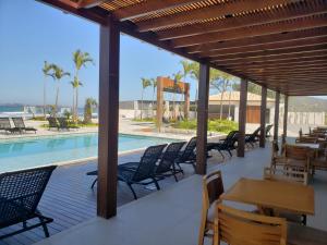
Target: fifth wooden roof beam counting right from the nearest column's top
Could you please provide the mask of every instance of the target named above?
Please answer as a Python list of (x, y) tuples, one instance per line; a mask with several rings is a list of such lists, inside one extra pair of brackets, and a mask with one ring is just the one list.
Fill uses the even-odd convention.
[(243, 47), (256, 47), (257, 45), (270, 45), (282, 44), (286, 41), (298, 40), (311, 40), (315, 37), (323, 37), (327, 35), (327, 27), (319, 27), (314, 29), (304, 29), (290, 33), (277, 33), (265, 36), (245, 37), (234, 40), (217, 41), (209, 44), (202, 44), (198, 46), (189, 47), (186, 50), (189, 53), (204, 53), (213, 50), (230, 49), (230, 48), (243, 48)]

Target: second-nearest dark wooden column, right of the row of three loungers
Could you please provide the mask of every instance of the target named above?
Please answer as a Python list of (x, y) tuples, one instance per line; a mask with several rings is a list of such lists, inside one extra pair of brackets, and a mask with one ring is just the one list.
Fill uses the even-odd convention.
[(198, 100), (197, 100), (197, 140), (196, 173), (206, 174), (207, 164), (207, 122), (209, 97), (209, 65), (199, 64)]

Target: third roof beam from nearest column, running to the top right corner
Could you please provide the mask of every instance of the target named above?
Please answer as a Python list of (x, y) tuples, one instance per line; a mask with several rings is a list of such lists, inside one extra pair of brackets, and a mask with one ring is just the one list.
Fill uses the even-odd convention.
[(292, 20), (296, 17), (304, 17), (314, 14), (327, 13), (327, 2), (302, 2), (303, 8), (289, 8), (280, 11), (271, 10), (270, 13), (256, 13), (252, 15), (244, 15), (238, 17), (228, 17), (204, 24), (193, 24), (173, 29), (156, 32), (160, 40), (174, 39), (180, 37), (187, 37), (198, 34), (207, 34), (211, 32), (220, 32), (227, 29), (235, 29), (252, 25), (268, 24), (278, 21)]

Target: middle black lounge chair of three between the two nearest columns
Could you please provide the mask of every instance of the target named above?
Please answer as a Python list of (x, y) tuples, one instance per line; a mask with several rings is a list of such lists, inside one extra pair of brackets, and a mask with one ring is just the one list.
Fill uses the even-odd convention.
[(179, 157), (180, 150), (185, 145), (185, 142), (171, 143), (167, 146), (165, 152), (160, 157), (160, 161), (155, 169), (155, 177), (157, 181), (166, 176), (173, 176), (178, 182), (177, 174), (181, 171), (175, 169), (175, 160)]

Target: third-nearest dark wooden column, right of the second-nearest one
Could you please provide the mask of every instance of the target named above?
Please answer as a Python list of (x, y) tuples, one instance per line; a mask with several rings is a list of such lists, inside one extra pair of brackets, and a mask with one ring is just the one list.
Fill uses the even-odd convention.
[(245, 125), (246, 125), (246, 103), (247, 103), (247, 81), (241, 79), (240, 109), (239, 109), (239, 140), (238, 157), (245, 155)]

